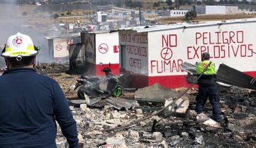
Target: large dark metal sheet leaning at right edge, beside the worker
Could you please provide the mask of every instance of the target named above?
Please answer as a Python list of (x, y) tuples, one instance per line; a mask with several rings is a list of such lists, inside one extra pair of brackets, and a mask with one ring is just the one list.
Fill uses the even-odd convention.
[(255, 78), (225, 64), (220, 64), (217, 81), (237, 87), (256, 90)]

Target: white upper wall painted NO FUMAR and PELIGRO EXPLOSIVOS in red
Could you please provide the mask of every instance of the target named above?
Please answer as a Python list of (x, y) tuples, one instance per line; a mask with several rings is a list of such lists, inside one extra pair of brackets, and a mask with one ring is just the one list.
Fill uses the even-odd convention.
[(256, 71), (256, 47), (251, 23), (231, 23), (188, 27), (187, 29), (157, 30), (148, 32), (149, 76), (186, 75), (181, 70), (185, 61), (196, 63), (208, 52), (217, 69), (221, 63), (242, 72)]

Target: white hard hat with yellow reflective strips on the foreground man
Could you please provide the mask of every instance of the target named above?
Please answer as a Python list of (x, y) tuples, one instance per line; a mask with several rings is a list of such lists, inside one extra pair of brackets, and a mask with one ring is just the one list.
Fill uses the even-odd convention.
[(31, 37), (17, 33), (7, 39), (2, 57), (28, 57), (38, 54), (39, 48), (33, 45)]

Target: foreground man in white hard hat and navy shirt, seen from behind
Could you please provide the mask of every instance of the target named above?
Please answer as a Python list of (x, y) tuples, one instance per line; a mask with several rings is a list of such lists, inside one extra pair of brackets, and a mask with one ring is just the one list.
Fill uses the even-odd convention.
[(69, 147), (78, 147), (77, 124), (59, 84), (33, 67), (38, 47), (28, 35), (7, 39), (0, 76), (0, 147), (56, 147), (56, 121)]

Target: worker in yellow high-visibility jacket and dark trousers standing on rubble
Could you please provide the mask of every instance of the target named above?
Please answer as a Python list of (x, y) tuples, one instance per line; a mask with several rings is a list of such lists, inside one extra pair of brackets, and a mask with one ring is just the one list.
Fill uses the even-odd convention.
[[(199, 76), (203, 70), (210, 63), (210, 54), (203, 53), (202, 61), (196, 64), (196, 73)], [(197, 81), (199, 85), (199, 92), (196, 97), (196, 112), (202, 113), (203, 106), (205, 106), (206, 101), (209, 98), (209, 101), (212, 105), (212, 113), (214, 120), (222, 123), (223, 119), (221, 118), (220, 111), (220, 97), (218, 95), (218, 87), (217, 87), (217, 77), (216, 77), (216, 69), (215, 64), (212, 62), (208, 69), (203, 73), (203, 75)]]

